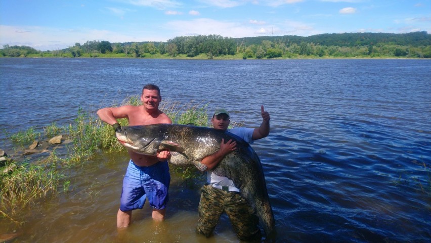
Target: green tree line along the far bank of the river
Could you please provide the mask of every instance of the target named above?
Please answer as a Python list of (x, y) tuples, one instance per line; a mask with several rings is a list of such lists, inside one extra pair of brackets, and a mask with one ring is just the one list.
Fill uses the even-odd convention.
[(93, 40), (63, 50), (37, 51), (29, 46), (4, 45), (4, 57), (206, 57), (236, 56), (247, 59), (297, 57), (404, 57), (431, 58), (431, 34), (343, 33), (303, 36), (232, 38), (220, 35), (179, 36), (166, 42)]

